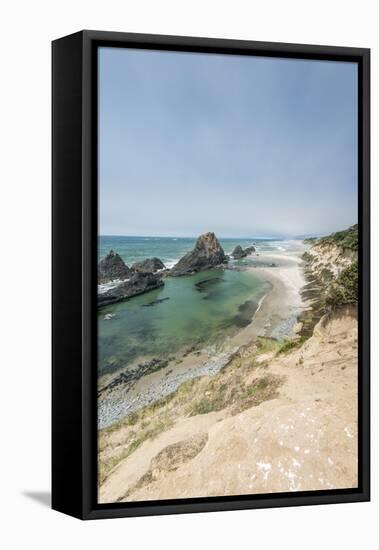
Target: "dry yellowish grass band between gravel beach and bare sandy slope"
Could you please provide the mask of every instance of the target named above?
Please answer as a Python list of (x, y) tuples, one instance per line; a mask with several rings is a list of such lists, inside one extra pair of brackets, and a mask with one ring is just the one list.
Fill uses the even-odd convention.
[(275, 355), (280, 345), (271, 338), (258, 338), (240, 348), (218, 374), (188, 380), (168, 396), (100, 430), (99, 483), (145, 441), (170, 429), (179, 418), (221, 410), (232, 416), (274, 399), (283, 377), (267, 373), (266, 363), (256, 359), (265, 353)]

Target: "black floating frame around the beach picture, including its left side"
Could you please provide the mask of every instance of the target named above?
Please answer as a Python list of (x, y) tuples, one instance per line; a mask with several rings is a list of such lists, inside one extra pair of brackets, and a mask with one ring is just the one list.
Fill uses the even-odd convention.
[[(359, 486), (356, 489), (98, 504), (96, 498), (97, 48), (358, 63)], [(52, 43), (52, 507), (81, 519), (370, 499), (370, 50), (81, 31)]]

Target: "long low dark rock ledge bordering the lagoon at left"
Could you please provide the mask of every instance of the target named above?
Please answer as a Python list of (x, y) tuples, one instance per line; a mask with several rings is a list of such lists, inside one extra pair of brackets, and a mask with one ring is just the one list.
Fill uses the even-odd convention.
[(144, 294), (163, 285), (164, 283), (159, 275), (135, 272), (128, 281), (120, 283), (115, 288), (107, 290), (107, 292), (98, 294), (97, 303), (99, 307), (107, 306), (127, 300), (138, 294)]

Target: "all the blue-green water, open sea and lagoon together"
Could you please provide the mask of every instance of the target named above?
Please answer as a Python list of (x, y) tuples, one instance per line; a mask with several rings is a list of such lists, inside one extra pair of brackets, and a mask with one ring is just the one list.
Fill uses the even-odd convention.
[[(100, 237), (99, 257), (110, 248), (130, 265), (152, 256), (172, 266), (195, 239)], [(284, 250), (285, 241), (221, 240), (225, 252), (255, 243), (259, 251)], [(253, 256), (232, 264), (261, 264)], [(191, 348), (222, 349), (250, 322), (268, 284), (251, 272), (213, 269), (186, 277), (167, 277), (165, 286), (98, 313), (99, 376), (152, 358), (167, 359)], [(111, 315), (109, 315), (111, 314)]]

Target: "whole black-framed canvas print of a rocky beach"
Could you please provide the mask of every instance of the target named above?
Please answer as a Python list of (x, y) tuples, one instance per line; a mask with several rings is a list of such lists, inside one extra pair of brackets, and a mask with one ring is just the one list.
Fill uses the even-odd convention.
[(52, 52), (53, 508), (369, 500), (369, 50)]

